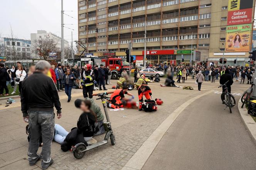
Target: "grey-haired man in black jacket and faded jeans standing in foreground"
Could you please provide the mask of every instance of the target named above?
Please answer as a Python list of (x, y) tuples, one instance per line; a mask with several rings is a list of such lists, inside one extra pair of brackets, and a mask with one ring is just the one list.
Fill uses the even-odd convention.
[[(51, 143), (54, 137), (54, 106), (57, 118), (61, 118), (61, 103), (57, 88), (51, 77), (47, 76), (51, 65), (47, 61), (39, 61), (35, 72), (22, 82), (20, 97), (23, 120), (29, 119), (29, 165), (33, 166), (42, 159), (42, 169), (52, 165)], [(39, 138), (42, 134), (42, 152), (37, 154)]]

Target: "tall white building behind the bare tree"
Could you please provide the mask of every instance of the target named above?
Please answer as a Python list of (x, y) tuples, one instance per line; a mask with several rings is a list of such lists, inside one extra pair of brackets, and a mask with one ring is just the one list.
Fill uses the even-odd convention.
[[(37, 46), (39, 46), (39, 44), (43, 41), (46, 40), (52, 40), (52, 43), (54, 43), (54, 45), (56, 44), (57, 50), (61, 51), (61, 37), (55, 35), (54, 33), (44, 31), (44, 30), (37, 30), (37, 33), (31, 33), (30, 34), (30, 38), (31, 38), (31, 56), (33, 58), (38, 58), (37, 56)], [(69, 47), (69, 43), (64, 40), (64, 48)], [(57, 53), (53, 52), (53, 53)]]

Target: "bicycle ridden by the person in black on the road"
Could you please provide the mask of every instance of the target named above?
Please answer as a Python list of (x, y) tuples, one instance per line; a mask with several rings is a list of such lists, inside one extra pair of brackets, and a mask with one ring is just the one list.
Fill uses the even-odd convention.
[[(220, 85), (218, 88), (224, 87), (225, 91), (221, 94), (221, 100), (222, 100), (222, 103), (226, 105), (226, 108), (229, 107), (229, 111), (230, 113), (232, 113), (231, 108), (236, 105), (236, 100), (235, 100), (235, 97), (228, 92), (227, 82), (224, 83), (223, 85)], [(226, 108), (224, 110), (226, 110)]]

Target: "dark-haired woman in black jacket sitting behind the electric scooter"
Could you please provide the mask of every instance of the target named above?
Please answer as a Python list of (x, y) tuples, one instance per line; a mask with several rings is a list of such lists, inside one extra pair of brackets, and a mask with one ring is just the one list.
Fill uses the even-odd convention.
[[(79, 132), (83, 133), (84, 140), (88, 143), (88, 145), (92, 145), (97, 143), (97, 140), (93, 139), (94, 133), (98, 132), (97, 116), (91, 110), (91, 102), (90, 100), (83, 100), (80, 105), (77, 105), (77, 100), (75, 101), (75, 105), (77, 108), (80, 108), (83, 113), (80, 115), (77, 121), (77, 128)], [(95, 130), (94, 130), (95, 129)]]

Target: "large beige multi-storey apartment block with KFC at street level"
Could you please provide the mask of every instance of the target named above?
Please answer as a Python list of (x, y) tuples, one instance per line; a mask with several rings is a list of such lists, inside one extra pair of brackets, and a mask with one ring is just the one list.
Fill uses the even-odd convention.
[[(191, 58), (217, 63), (224, 53), (228, 62), (237, 58), (242, 65), (248, 62), (248, 52), (226, 50), (226, 43), (231, 43), (226, 40), (230, 1), (78, 0), (79, 41), (87, 52), (108, 51), (120, 56), (131, 42), (131, 54), (140, 59), (146, 43), (146, 59), (153, 64), (180, 62), (182, 58), (188, 63)], [(199, 56), (195, 57), (194, 51), (200, 52)]]

